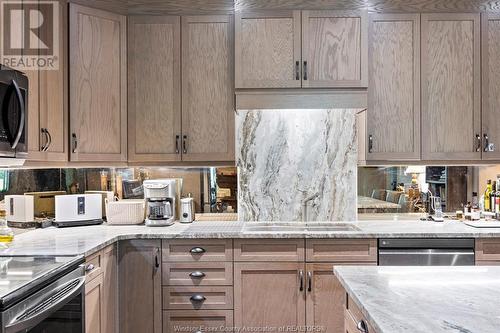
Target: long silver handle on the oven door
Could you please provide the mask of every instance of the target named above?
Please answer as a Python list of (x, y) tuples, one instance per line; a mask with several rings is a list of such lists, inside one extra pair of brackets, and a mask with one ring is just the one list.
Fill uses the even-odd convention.
[[(66, 286), (74, 284), (76, 285), (69, 290), (65, 290), (62, 295), (58, 295), (59, 298), (57, 300), (51, 301), (51, 298), (57, 294), (58, 291), (64, 289)], [(5, 333), (14, 333), (22, 330), (30, 329), (40, 323), (42, 320), (50, 316), (52, 313), (59, 310), (67, 300), (75, 297), (81, 292), (83, 285), (85, 284), (85, 276), (78, 277), (76, 279), (72, 279), (58, 288), (58, 291), (51, 292), (47, 295), (46, 298), (41, 299), (37, 304), (30, 306), (29, 309), (17, 315), (12, 322), (5, 326)], [(47, 303), (46, 305), (44, 303)], [(39, 309), (36, 309), (40, 307)], [(33, 313), (24, 317), (25, 313), (30, 311), (30, 309), (34, 309)]]

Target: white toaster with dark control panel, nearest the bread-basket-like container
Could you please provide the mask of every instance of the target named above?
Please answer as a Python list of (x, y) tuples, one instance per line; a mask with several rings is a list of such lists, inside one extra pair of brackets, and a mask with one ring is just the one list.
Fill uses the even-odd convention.
[(102, 195), (56, 195), (55, 211), (54, 224), (58, 227), (101, 224)]

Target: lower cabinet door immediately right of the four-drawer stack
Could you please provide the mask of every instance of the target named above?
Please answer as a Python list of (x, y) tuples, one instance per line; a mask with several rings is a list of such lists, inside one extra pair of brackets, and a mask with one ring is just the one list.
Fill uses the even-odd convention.
[(234, 325), (237, 328), (303, 326), (303, 263), (235, 263)]

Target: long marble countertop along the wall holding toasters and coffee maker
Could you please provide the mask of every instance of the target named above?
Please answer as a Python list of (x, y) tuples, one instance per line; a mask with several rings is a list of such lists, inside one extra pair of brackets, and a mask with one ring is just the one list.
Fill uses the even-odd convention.
[[(297, 223), (293, 223), (297, 224)], [(88, 226), (36, 229), (16, 235), (0, 255), (89, 255), (117, 240), (172, 238), (486, 238), (500, 228), (473, 228), (461, 222), (358, 221), (353, 231), (247, 231), (242, 222), (176, 223), (169, 227)]]

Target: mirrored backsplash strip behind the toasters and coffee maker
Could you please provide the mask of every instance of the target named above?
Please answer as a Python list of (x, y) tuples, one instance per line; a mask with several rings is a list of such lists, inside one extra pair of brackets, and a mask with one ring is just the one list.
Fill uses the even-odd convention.
[(237, 211), (237, 173), (234, 167), (203, 168), (63, 168), (0, 169), (0, 200), (25, 192), (113, 191), (120, 198), (143, 198), (146, 179), (181, 180), (181, 197), (194, 198), (197, 213)]

